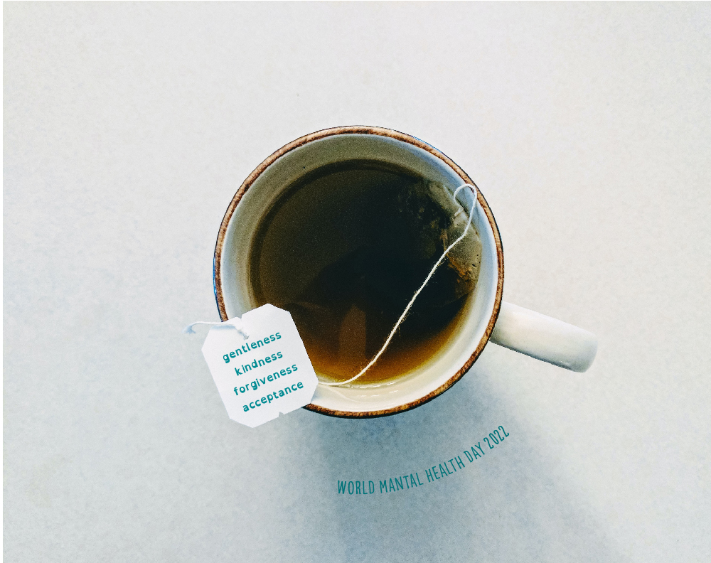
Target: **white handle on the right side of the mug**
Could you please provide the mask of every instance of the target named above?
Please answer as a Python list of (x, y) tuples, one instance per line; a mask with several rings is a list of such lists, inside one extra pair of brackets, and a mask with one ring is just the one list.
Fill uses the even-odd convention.
[(593, 333), (506, 301), (489, 340), (575, 372), (586, 371), (597, 353)]

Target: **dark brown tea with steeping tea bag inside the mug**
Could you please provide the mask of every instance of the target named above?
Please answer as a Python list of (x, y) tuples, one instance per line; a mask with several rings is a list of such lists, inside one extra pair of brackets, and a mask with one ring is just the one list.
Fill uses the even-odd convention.
[[(467, 221), (444, 186), (410, 171), (380, 161), (324, 166), (289, 186), (257, 228), (255, 297), (292, 313), (320, 377), (346, 380), (378, 353)], [(469, 227), (385, 353), (352, 385), (399, 377), (436, 355), (461, 318), (480, 262)]]

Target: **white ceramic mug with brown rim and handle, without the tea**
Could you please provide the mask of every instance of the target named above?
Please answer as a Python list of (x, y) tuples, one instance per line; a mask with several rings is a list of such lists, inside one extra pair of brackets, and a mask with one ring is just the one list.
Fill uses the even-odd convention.
[[(334, 127), (302, 136), (257, 166), (232, 198), (215, 245), (214, 283), (223, 321), (258, 306), (249, 279), (250, 248), (260, 219), (297, 178), (326, 164), (353, 159), (387, 161), (438, 181), (452, 193), (471, 178), (427, 143), (382, 127)], [(583, 372), (592, 364), (592, 333), (528, 309), (505, 303), (503, 249), (496, 220), (477, 189), (472, 222), (482, 244), (481, 269), (464, 320), (447, 344), (407, 377), (378, 386), (319, 385), (306, 406), (336, 417), (380, 417), (418, 407), (454, 385), (492, 341), (562, 368)], [(461, 190), (459, 203), (471, 211), (474, 193)]]

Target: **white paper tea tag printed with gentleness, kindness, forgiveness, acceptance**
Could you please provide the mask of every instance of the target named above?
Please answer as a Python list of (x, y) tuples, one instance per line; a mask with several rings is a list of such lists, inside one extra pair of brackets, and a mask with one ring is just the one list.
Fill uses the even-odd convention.
[(251, 428), (309, 404), (319, 385), (291, 314), (273, 305), (210, 328), (203, 355), (230, 418)]

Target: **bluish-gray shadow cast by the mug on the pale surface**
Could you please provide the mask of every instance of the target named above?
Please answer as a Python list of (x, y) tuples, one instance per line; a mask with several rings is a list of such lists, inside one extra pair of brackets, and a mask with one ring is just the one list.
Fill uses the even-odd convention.
[[(327, 522), (333, 559), (619, 557), (606, 540), (604, 522), (582, 508), (572, 486), (552, 477), (560, 474), (560, 462), (535, 444), (525, 416), (496, 392), (496, 373), (501, 371), (496, 355), (485, 350), (454, 387), (412, 411), (379, 419), (312, 413), (314, 460), (324, 464), (327, 476), (319, 484), (325, 488), (319, 511), (327, 515), (314, 513), (314, 518)], [(483, 436), (499, 426), (509, 436), (492, 443), (492, 449)], [(469, 461), (464, 451), (477, 444), (483, 456)], [(439, 464), (450, 474), (435, 479)], [(391, 478), (410, 475), (421, 484), (400, 490), (395, 483), (397, 490), (390, 490)], [(361, 481), (375, 490), (363, 495), (353, 487), (349, 494), (346, 485), (339, 493), (338, 481)]]

